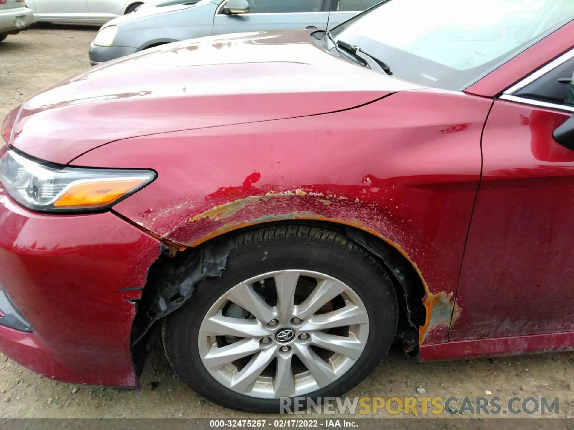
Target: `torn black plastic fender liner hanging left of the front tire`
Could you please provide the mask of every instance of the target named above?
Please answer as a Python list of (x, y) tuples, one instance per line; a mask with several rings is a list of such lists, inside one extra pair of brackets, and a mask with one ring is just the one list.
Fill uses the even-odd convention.
[(207, 277), (221, 276), (234, 244), (233, 238), (212, 240), (194, 250), (193, 254), (180, 255), (185, 257), (183, 262), (163, 267), (157, 295), (146, 314), (139, 319), (131, 346), (139, 342), (157, 320), (180, 308), (192, 295), (198, 282)]

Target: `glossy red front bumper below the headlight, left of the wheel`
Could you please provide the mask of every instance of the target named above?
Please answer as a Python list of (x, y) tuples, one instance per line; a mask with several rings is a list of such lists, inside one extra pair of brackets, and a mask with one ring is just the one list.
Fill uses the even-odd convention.
[(0, 352), (57, 380), (137, 386), (134, 300), (160, 249), (111, 212), (33, 213), (0, 186), (0, 288), (29, 324), (17, 330), (0, 320)]

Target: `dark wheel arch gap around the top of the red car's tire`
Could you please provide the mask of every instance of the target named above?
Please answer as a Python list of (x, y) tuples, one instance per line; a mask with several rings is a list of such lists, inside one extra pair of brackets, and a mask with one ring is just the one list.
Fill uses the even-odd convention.
[[(166, 314), (162, 315), (150, 323), (150, 318), (153, 319), (157, 315), (157, 304), (160, 303), (160, 306), (168, 308), (170, 303), (181, 300), (181, 302), (177, 303), (177, 307), (169, 310), (168, 313), (170, 313), (179, 308), (188, 299), (193, 300), (192, 291), (185, 298), (176, 293), (173, 299), (164, 296), (164, 298), (158, 300), (158, 297), (169, 291), (169, 288), (173, 286), (173, 276), (177, 279), (176, 282), (180, 282), (181, 287), (182, 284), (189, 283), (189, 277), (183, 276), (184, 272), (191, 269), (197, 270), (205, 261), (211, 263), (211, 269), (208, 269), (206, 272), (205, 264), (203, 264), (204, 271), (199, 273), (200, 279), (207, 276), (219, 276), (220, 271), (224, 270), (227, 255), (231, 251), (236, 236), (250, 230), (258, 230), (270, 226), (306, 225), (333, 230), (344, 234), (350, 240), (367, 249), (371, 255), (388, 269), (391, 275), (399, 305), (397, 338), (402, 341), (406, 353), (411, 354), (417, 351), (419, 331), (425, 325), (427, 318), (426, 308), (423, 303), (426, 286), (416, 264), (409, 259), (408, 255), (398, 245), (392, 243), (381, 234), (364, 226), (359, 228), (350, 224), (343, 221), (326, 220), (269, 220), (238, 226), (227, 232), (214, 234), (212, 237), (206, 237), (201, 243), (194, 244), (193, 247), (178, 248), (178, 245), (175, 243), (165, 242), (166, 252), (149, 269), (148, 282), (142, 291), (142, 299), (138, 302), (137, 314), (132, 327), (132, 357), (138, 374), (141, 373), (144, 365), (146, 351), (148, 350), (147, 345), (154, 332), (153, 328), (166, 316)], [(186, 263), (183, 263), (184, 261)], [(191, 265), (187, 263), (189, 261), (192, 261)], [(180, 265), (180, 263), (183, 264)], [(166, 281), (168, 278), (170, 280)]]

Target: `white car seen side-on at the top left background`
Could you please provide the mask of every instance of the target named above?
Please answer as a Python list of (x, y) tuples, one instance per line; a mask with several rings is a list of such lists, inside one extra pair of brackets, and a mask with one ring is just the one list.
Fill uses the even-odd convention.
[(36, 22), (106, 24), (133, 12), (145, 0), (26, 0)]

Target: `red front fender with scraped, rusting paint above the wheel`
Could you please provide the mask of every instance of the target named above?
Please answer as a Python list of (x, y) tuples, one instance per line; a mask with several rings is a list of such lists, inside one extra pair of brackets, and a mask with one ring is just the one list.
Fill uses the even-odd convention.
[(74, 163), (155, 169), (157, 181), (115, 210), (182, 246), (280, 220), (375, 234), (425, 283), (421, 342), (445, 342), (488, 108), (460, 93), (404, 92), (335, 114), (123, 140)]

